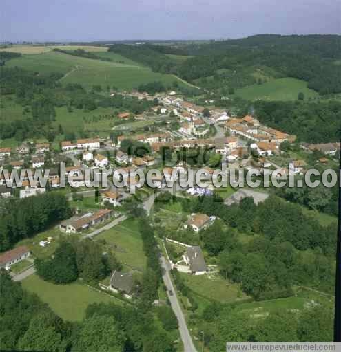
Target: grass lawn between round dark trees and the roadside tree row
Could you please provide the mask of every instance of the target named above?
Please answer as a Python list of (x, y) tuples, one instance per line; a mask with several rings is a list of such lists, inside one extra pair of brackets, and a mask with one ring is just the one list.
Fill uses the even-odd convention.
[(114, 228), (96, 236), (96, 240), (99, 239), (104, 239), (110, 245), (117, 259), (126, 266), (127, 270), (142, 271), (145, 269), (146, 257), (136, 220), (123, 221)]

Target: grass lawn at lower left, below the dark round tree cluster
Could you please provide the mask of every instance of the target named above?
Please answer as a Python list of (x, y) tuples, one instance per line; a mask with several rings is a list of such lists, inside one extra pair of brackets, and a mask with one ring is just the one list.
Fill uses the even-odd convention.
[(121, 305), (121, 300), (97, 292), (80, 283), (70, 285), (54, 285), (43, 281), (37, 275), (31, 275), (22, 281), (24, 289), (35, 293), (48, 303), (50, 308), (61, 318), (69, 321), (81, 321), (85, 309), (90, 303), (115, 303)]

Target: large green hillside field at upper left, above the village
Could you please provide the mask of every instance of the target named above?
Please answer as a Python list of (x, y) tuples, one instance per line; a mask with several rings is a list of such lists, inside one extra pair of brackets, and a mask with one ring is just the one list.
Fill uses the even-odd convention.
[[(62, 83), (81, 83), (86, 88), (101, 85), (103, 88), (134, 89), (141, 83), (162, 81), (171, 85), (177, 78), (172, 75), (158, 74), (138, 64), (101, 61), (72, 56), (60, 52), (46, 52), (37, 55), (23, 55), (6, 63), (7, 67), (19, 66), (34, 72), (61, 72), (65, 76)], [(180, 80), (177, 80), (180, 83)], [(182, 84), (182, 83), (181, 83)]]

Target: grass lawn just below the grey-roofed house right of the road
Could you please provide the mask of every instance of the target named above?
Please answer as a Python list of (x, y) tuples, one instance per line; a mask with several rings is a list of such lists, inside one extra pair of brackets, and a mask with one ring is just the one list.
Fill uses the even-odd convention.
[(247, 298), (242, 293), (240, 285), (231, 284), (218, 274), (196, 276), (182, 273), (180, 275), (187, 286), (205, 298), (218, 300), (221, 303), (231, 303)]

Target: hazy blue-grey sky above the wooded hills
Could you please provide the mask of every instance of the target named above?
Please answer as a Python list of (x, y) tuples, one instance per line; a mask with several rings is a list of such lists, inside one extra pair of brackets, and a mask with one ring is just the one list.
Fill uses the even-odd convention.
[(340, 34), (340, 0), (0, 0), (0, 39), (218, 39)]

